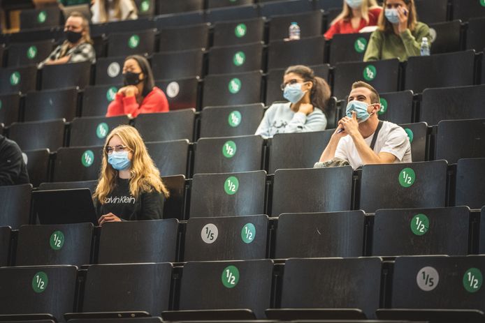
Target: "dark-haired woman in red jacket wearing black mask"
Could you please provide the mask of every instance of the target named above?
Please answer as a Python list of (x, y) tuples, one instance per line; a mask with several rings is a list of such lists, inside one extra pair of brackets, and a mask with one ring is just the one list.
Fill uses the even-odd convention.
[(123, 65), (124, 87), (108, 105), (106, 117), (127, 114), (136, 118), (140, 113), (168, 112), (164, 91), (155, 87), (152, 68), (145, 57), (131, 55)]

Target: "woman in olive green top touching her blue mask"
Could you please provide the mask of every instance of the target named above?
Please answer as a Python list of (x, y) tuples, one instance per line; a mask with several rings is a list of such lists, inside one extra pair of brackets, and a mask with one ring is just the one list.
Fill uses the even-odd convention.
[(414, 0), (384, 0), (378, 29), (372, 33), (364, 61), (396, 59), (407, 61), (421, 54), (424, 37), (430, 43), (429, 27), (417, 21)]

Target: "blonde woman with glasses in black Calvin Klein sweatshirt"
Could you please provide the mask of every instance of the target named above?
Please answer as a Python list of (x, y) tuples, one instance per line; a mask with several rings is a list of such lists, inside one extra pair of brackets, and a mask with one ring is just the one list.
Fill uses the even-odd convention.
[(161, 219), (168, 190), (147, 147), (132, 126), (118, 126), (106, 138), (93, 198), (99, 225), (122, 220)]

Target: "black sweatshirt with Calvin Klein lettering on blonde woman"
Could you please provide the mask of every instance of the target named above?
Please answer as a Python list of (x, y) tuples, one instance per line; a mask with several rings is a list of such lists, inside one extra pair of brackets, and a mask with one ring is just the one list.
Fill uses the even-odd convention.
[(96, 200), (96, 213), (101, 217), (113, 213), (122, 220), (157, 220), (164, 211), (164, 195), (153, 190), (143, 192), (138, 198), (130, 193), (129, 179), (117, 178), (116, 186), (106, 197), (105, 203)]

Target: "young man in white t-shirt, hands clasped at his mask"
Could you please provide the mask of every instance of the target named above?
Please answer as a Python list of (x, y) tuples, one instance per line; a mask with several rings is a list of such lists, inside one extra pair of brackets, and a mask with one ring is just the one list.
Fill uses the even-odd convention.
[(379, 94), (372, 86), (361, 81), (352, 84), (346, 116), (338, 121), (315, 167), (337, 158), (347, 160), (354, 170), (367, 164), (411, 163), (411, 144), (405, 130), (395, 123), (379, 121), (380, 108)]

